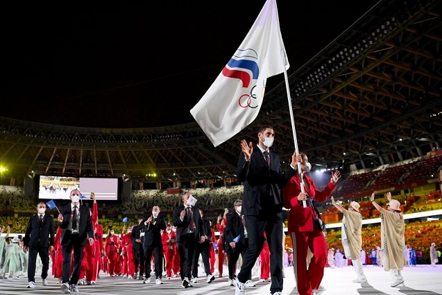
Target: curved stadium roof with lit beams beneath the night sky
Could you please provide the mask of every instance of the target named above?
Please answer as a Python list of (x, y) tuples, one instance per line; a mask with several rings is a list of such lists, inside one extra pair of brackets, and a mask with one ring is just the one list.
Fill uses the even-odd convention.
[[(441, 148), (440, 11), (436, 0), (380, 1), (289, 75), (298, 146), (312, 165), (349, 171)], [(235, 177), (239, 142), (255, 142), (259, 126), (275, 128), (272, 149), (289, 160), (287, 106), (280, 83), (253, 124), (216, 148), (196, 123), (80, 128), (0, 117), (0, 160), (16, 179), (31, 171), (140, 182)]]

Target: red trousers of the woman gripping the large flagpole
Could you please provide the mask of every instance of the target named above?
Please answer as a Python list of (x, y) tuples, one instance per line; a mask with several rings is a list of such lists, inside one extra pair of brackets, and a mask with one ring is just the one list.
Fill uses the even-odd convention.
[[(294, 245), (294, 271), (296, 285), (300, 295), (312, 295), (312, 289), (319, 289), (327, 263), (327, 242), (323, 232), (291, 233)], [(313, 253), (307, 270), (307, 250)]]

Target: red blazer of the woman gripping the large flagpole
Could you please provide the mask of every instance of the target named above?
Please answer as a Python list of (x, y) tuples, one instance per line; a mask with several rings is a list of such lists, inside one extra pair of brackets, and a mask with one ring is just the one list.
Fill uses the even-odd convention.
[[(304, 175), (304, 179), (305, 193), (318, 202), (325, 201), (337, 187), (337, 185), (328, 183), (324, 190), (320, 192), (316, 185), (314, 185), (312, 178)], [(298, 201), (298, 194), (300, 192), (300, 178), (299, 175), (296, 174), (289, 180), (289, 183), (282, 188), (284, 207), (290, 209), (288, 222), (289, 233), (296, 231), (310, 232), (315, 229), (313, 223), (313, 208), (303, 208), (303, 202)]]

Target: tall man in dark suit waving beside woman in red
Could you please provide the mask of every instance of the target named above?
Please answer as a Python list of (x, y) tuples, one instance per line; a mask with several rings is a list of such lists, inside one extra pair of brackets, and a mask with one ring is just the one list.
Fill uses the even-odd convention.
[(275, 133), (271, 126), (264, 126), (258, 135), (257, 146), (241, 141), (241, 155), (237, 177), (244, 185), (242, 214), (248, 230), (248, 248), (238, 273), (236, 294), (244, 294), (246, 280), (264, 244), (264, 230), (271, 252), (271, 294), (282, 291), (282, 199), (280, 189), (296, 172), (296, 153), (291, 165), (282, 172), (280, 158), (269, 151)]

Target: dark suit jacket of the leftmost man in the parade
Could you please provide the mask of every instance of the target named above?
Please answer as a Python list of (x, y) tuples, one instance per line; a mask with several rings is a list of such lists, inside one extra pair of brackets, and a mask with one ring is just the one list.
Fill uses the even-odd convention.
[(35, 214), (29, 219), (23, 239), (24, 246), (31, 248), (54, 246), (54, 232), (53, 219), (49, 214), (44, 214), (41, 228), (40, 217)]

